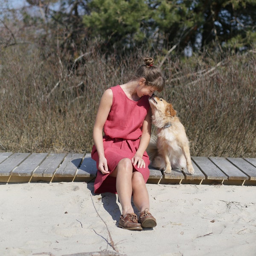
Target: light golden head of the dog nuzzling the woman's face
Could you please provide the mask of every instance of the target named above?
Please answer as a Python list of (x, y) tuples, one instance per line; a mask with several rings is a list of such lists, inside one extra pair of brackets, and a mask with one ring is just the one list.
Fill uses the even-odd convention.
[(166, 102), (162, 98), (158, 98), (156, 95), (152, 95), (149, 98), (149, 104), (152, 109), (152, 113), (155, 114), (156, 112), (160, 112), (166, 116), (176, 116), (177, 112), (172, 107), (171, 103)]

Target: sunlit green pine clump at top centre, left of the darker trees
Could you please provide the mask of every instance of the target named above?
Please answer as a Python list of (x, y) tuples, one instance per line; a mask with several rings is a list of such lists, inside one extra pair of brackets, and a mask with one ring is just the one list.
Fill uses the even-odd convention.
[(87, 7), (90, 13), (83, 16), (83, 21), (90, 36), (100, 35), (105, 43), (119, 47), (134, 45), (145, 38), (141, 27), (148, 13), (143, 0), (95, 0)]

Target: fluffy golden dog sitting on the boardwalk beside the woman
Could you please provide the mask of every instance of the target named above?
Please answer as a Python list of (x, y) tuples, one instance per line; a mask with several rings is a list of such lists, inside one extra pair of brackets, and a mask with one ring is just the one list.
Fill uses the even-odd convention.
[(152, 123), (157, 128), (157, 137), (151, 136), (147, 148), (151, 165), (165, 173), (172, 169), (185, 169), (194, 173), (192, 166), (189, 140), (180, 119), (172, 104), (154, 94), (149, 98), (152, 110)]

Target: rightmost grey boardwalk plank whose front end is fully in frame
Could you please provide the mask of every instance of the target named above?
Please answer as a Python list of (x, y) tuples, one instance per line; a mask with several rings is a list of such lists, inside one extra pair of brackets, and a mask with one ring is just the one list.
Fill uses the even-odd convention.
[(243, 184), (244, 180), (248, 180), (249, 177), (236, 168), (236, 166), (230, 163), (225, 157), (209, 157), (209, 159), (227, 175), (229, 184), (232, 184), (234, 180), (236, 180), (235, 182), (241, 180), (241, 184)]

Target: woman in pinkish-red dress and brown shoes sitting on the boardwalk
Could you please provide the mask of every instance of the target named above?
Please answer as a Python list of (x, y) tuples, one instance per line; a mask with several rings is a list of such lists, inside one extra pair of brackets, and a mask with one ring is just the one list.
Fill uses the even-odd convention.
[[(151, 136), (148, 99), (154, 91), (163, 90), (165, 81), (153, 61), (153, 58), (144, 58), (145, 64), (130, 81), (105, 90), (93, 128), (95, 145), (91, 156), (98, 168), (94, 191), (118, 194), (122, 206), (118, 226), (128, 230), (157, 225), (149, 211), (145, 183), (150, 161), (145, 150)], [(140, 212), (139, 221), (131, 196)]]

